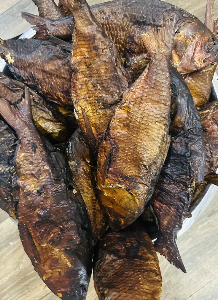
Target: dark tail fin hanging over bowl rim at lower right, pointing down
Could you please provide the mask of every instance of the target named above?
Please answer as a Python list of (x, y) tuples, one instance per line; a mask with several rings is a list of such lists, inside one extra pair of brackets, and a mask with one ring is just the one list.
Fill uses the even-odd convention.
[(176, 245), (176, 239), (170, 239), (165, 237), (165, 235), (162, 235), (159, 233), (159, 236), (157, 240), (154, 243), (155, 250), (159, 252), (161, 255), (165, 256), (166, 259), (170, 262), (173, 263), (173, 265), (181, 269), (182, 272), (186, 273), (185, 266), (182, 262), (182, 258), (179, 254), (178, 247)]

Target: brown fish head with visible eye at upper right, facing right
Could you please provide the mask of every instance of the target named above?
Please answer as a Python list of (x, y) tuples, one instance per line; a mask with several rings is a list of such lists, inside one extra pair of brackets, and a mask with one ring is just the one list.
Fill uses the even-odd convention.
[(172, 65), (180, 74), (200, 70), (218, 61), (218, 39), (198, 19), (182, 22), (174, 38)]

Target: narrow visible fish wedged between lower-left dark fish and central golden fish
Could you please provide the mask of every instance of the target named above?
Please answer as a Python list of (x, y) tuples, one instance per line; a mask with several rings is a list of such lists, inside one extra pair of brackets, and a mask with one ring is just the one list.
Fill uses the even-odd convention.
[(84, 199), (92, 226), (93, 244), (106, 230), (106, 221), (96, 198), (96, 166), (80, 129), (68, 142), (67, 157), (73, 180)]

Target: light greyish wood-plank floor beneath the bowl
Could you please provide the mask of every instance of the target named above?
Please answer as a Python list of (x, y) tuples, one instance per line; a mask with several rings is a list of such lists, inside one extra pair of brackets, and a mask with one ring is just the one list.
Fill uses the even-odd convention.
[[(101, 2), (101, 1), (98, 1)], [(218, 0), (215, 0), (218, 17)], [(94, 4), (96, 1), (89, 1)], [(204, 21), (206, 0), (171, 1)], [(21, 11), (37, 13), (31, 0), (0, 0), (0, 37), (12, 38), (30, 28)], [(194, 225), (178, 238), (187, 274), (159, 256), (163, 277), (161, 300), (217, 300), (218, 299), (218, 194)], [(33, 270), (23, 250), (16, 224), (0, 210), (0, 300), (55, 300)], [(97, 300), (91, 280), (87, 300)]]

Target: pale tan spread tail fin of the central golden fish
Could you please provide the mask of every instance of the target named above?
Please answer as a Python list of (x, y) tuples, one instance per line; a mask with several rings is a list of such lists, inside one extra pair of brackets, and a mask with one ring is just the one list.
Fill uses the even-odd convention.
[(171, 52), (176, 32), (176, 22), (177, 16), (174, 16), (173, 19), (167, 19), (162, 27), (153, 28), (150, 32), (141, 35), (149, 56), (156, 53), (157, 48), (160, 49), (163, 46), (164, 49), (167, 47)]

